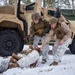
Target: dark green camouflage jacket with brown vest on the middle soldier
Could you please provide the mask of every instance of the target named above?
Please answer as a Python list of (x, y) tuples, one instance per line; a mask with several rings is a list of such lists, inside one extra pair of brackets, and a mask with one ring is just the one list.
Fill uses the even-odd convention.
[[(43, 30), (43, 31), (41, 30), (41, 31), (43, 32), (41, 35), (39, 35), (39, 33), (37, 32), (38, 29), (42, 29), (42, 30)], [(46, 20), (40, 19), (38, 24), (35, 24), (34, 22), (31, 23), (30, 35), (32, 35), (33, 33), (36, 32), (34, 35), (39, 35), (39, 36), (42, 37), (42, 36), (44, 36), (46, 33), (48, 33), (49, 30), (50, 30), (50, 25), (49, 25), (49, 23), (48, 23)], [(33, 43), (34, 35), (29, 38), (30, 44)]]

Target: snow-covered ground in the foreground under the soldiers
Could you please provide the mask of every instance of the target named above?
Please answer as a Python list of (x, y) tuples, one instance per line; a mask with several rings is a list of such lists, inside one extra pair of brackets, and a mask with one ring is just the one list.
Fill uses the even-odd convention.
[[(24, 49), (28, 48), (27, 46)], [(75, 55), (65, 54), (58, 66), (49, 66), (53, 61), (53, 56), (49, 55), (46, 64), (42, 64), (42, 56), (35, 68), (12, 68), (0, 75), (75, 75)]]

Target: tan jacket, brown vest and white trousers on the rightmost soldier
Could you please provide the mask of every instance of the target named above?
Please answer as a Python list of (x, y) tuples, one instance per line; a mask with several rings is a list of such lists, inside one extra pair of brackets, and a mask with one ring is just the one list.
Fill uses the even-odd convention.
[[(64, 22), (61, 23), (61, 26), (57, 26), (55, 29), (51, 28), (42, 46), (48, 44), (54, 34), (56, 34), (57, 39), (53, 47), (53, 59), (55, 62), (59, 62), (71, 43), (71, 30)], [(61, 40), (63, 40), (63, 44), (59, 45)]]

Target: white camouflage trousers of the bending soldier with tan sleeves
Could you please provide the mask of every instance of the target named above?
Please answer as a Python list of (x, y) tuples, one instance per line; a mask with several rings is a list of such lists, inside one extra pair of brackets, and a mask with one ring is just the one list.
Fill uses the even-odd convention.
[(62, 56), (64, 55), (65, 51), (68, 49), (69, 44), (71, 43), (71, 38), (67, 39), (62, 45), (58, 45), (59, 39), (56, 40), (54, 47), (53, 47), (53, 56), (54, 61), (59, 62), (61, 61)]

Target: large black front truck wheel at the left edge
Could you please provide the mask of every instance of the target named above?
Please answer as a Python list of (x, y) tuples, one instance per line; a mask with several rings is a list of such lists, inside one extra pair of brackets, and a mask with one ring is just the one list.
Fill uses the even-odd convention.
[(0, 55), (10, 56), (12, 53), (23, 49), (23, 39), (15, 30), (3, 30), (0, 32)]

